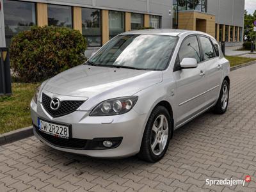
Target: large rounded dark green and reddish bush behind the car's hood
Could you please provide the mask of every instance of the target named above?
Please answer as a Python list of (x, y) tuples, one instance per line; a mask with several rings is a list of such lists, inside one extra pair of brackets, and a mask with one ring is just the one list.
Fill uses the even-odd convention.
[(12, 38), (11, 67), (19, 81), (40, 82), (84, 63), (86, 39), (74, 29), (32, 27)]

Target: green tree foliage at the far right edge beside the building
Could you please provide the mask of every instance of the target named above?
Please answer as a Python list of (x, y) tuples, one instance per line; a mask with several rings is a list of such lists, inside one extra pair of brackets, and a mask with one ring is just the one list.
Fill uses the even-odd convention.
[(248, 41), (255, 40), (256, 32), (253, 32), (253, 22), (256, 20), (256, 10), (251, 15), (244, 11), (244, 35), (247, 36)]

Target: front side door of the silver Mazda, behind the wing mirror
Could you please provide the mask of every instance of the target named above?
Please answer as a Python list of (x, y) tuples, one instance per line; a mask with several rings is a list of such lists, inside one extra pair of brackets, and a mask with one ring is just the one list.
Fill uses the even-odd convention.
[[(183, 58), (195, 58), (196, 68), (180, 68)], [(182, 42), (173, 68), (176, 82), (175, 108), (177, 109), (176, 126), (184, 124), (205, 107), (205, 93), (207, 82), (205, 77), (205, 63), (202, 63), (198, 37), (188, 36)]]

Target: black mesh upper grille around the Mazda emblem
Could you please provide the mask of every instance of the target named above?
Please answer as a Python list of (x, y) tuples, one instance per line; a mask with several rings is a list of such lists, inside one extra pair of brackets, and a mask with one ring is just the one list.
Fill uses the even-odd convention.
[(42, 104), (45, 108), (45, 110), (52, 116), (52, 117), (58, 117), (67, 115), (69, 113), (73, 113), (76, 111), (77, 108), (79, 108), (83, 103), (84, 100), (63, 100), (60, 103), (60, 108), (57, 110), (51, 109), (51, 97), (45, 95), (43, 93), (42, 95)]

